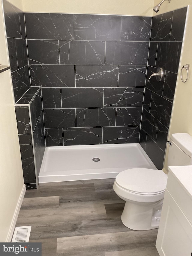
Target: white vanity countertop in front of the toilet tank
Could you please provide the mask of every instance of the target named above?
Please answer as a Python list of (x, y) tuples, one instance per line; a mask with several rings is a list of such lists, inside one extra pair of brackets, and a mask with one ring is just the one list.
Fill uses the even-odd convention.
[(170, 166), (168, 170), (192, 198), (192, 165)]

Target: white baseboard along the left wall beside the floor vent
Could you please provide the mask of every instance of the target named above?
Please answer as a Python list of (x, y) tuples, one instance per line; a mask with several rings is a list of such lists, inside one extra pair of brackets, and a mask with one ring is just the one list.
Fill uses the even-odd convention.
[(11, 242), (11, 238), (13, 236), (13, 232), (14, 232), (14, 229), (15, 229), (15, 224), (16, 224), (16, 221), (17, 221), (17, 217), (19, 215), (19, 210), (21, 208), (21, 204), (22, 204), (22, 201), (23, 201), (23, 198), (24, 198), (24, 195), (25, 195), (25, 191), (26, 191), (26, 186), (24, 184), (23, 188), (22, 188), (22, 191), (21, 191), (21, 194), (19, 196), (19, 200), (18, 200), (17, 205), (16, 205), (16, 209), (15, 209), (13, 219), (11, 221), (11, 225), (10, 225), (9, 232), (8, 232), (8, 235), (7, 235), (7, 239), (6, 239), (5, 242)]

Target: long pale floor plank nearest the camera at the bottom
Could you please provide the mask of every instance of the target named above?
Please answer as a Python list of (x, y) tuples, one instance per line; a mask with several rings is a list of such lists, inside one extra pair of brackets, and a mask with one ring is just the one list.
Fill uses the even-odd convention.
[(83, 255), (92, 253), (151, 247), (156, 240), (157, 230), (127, 231), (89, 236), (62, 237), (57, 239), (57, 253)]

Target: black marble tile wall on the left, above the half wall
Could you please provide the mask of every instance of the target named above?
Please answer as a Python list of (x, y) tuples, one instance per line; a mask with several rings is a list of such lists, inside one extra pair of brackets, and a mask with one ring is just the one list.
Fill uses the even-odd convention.
[(7, 43), (13, 82), (15, 102), (31, 86), (26, 44), (24, 13), (14, 5), (3, 0)]

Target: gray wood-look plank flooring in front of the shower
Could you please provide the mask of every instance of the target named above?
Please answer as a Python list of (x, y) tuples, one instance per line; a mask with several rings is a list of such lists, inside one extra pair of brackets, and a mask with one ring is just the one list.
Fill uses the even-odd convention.
[(114, 179), (53, 182), (26, 191), (16, 226), (31, 225), (42, 256), (159, 256), (158, 229), (125, 227)]

